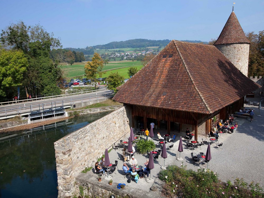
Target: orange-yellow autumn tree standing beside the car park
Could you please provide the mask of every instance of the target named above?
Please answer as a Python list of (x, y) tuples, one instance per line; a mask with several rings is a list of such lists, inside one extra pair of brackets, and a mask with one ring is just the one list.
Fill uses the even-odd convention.
[(99, 78), (102, 77), (103, 74), (102, 69), (103, 69), (103, 59), (98, 53), (94, 53), (92, 61), (87, 62), (84, 65), (85, 74), (87, 78), (95, 82), (95, 88), (96, 88), (96, 83), (98, 82), (97, 76), (99, 76)]

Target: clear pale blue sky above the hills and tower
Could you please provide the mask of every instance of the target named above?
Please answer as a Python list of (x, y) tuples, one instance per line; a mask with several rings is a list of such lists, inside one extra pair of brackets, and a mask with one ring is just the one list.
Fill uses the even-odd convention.
[(216, 39), (230, 13), (244, 32), (264, 30), (263, 0), (24, 0), (1, 1), (0, 29), (22, 20), (39, 23), (63, 48), (129, 39)]

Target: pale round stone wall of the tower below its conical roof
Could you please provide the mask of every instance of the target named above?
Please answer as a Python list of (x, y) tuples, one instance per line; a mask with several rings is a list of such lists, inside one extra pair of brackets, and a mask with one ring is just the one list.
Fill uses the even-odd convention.
[(220, 44), (215, 47), (245, 76), (248, 75), (249, 43)]

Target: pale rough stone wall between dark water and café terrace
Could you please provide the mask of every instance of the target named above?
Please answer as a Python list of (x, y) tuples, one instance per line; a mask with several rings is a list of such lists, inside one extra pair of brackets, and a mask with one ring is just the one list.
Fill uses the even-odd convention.
[(131, 110), (128, 106), (74, 131), (54, 143), (58, 175), (58, 197), (72, 196), (77, 175), (93, 167), (106, 148), (130, 132)]

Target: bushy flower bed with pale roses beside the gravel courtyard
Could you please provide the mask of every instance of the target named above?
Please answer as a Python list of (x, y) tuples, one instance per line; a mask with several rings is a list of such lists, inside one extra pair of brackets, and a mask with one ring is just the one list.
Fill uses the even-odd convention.
[(166, 197), (223, 197), (223, 198), (263, 198), (263, 189), (258, 183), (244, 182), (236, 178), (234, 184), (231, 181), (218, 180), (217, 173), (203, 169), (186, 170), (186, 166), (168, 166), (166, 170), (159, 172), (159, 178), (166, 182), (163, 186), (163, 194)]

